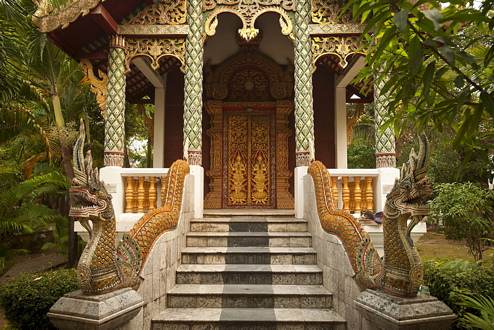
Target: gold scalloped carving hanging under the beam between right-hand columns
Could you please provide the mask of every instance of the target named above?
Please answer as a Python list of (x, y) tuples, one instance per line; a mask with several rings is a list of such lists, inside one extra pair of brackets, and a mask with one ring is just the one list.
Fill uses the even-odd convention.
[(312, 37), (312, 64), (316, 70), (316, 62), (321, 56), (332, 55), (340, 59), (339, 66), (344, 68), (348, 65), (347, 58), (350, 55), (367, 53), (361, 50), (364, 46), (359, 43), (358, 36), (348, 37)]

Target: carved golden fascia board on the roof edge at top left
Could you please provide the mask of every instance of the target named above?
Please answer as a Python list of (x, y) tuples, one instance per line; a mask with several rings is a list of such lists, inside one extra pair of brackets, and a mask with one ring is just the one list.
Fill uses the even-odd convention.
[(59, 27), (65, 29), (69, 23), (74, 22), (81, 15), (87, 15), (103, 1), (105, 0), (69, 0), (59, 9), (53, 9), (49, 0), (36, 0), (38, 10), (33, 15), (33, 22), (43, 33), (54, 31)]

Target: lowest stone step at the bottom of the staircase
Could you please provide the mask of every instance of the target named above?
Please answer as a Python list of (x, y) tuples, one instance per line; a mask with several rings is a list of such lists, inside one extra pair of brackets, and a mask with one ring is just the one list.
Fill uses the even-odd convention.
[(332, 308), (168, 308), (152, 323), (153, 330), (346, 329), (345, 319)]

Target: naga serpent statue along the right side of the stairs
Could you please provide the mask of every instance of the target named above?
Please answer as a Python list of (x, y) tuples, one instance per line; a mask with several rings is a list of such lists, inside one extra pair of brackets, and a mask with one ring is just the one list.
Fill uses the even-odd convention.
[(362, 224), (350, 213), (335, 207), (331, 178), (326, 167), (319, 161), (309, 166), (308, 173), (314, 179), (321, 226), (327, 233), (342, 240), (356, 273), (356, 281), (363, 289), (412, 297), (417, 294), (422, 283), (423, 267), (410, 233), (428, 214), (426, 201), (432, 190), (427, 178), (428, 142), (423, 135), (419, 141), (418, 156), (412, 149), (409, 166), (403, 165), (400, 179), (396, 180), (386, 198), (382, 258)]

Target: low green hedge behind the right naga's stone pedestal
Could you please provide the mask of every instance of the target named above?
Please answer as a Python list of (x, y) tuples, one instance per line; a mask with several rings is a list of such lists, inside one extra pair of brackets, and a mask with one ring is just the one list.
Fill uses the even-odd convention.
[[(429, 286), (431, 295), (437, 297), (462, 318), (466, 313), (480, 316), (478, 310), (465, 304), (465, 295), (475, 292), (485, 297), (494, 296), (494, 268), (465, 261), (456, 264), (438, 265), (435, 261), (423, 262), (424, 284)], [(455, 325), (460, 321), (456, 320)]]

